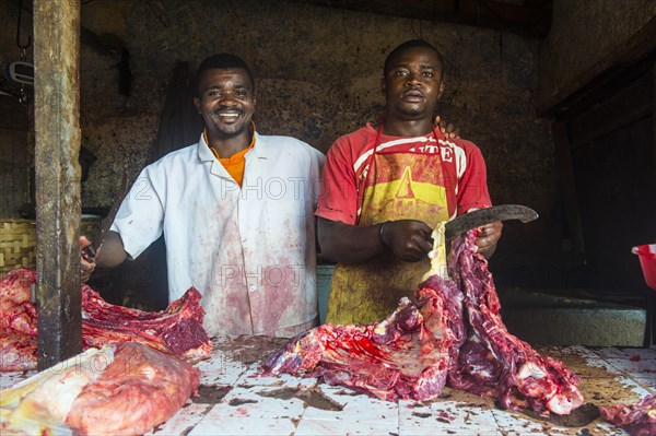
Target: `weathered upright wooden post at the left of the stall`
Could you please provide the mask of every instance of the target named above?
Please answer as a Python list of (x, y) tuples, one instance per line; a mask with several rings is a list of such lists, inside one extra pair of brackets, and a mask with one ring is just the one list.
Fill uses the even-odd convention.
[(34, 0), (38, 369), (82, 351), (80, 2)]

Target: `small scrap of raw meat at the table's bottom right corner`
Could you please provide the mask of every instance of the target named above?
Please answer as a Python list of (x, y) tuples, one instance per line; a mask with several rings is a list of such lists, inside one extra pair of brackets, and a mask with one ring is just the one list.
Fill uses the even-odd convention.
[(599, 413), (631, 436), (656, 435), (656, 393), (646, 396), (635, 404), (601, 406)]

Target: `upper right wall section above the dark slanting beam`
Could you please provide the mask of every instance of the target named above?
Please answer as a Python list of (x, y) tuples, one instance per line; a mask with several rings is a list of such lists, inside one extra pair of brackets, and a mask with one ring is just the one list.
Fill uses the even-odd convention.
[(554, 0), (540, 47), (539, 111), (553, 109), (600, 73), (656, 47), (656, 1)]

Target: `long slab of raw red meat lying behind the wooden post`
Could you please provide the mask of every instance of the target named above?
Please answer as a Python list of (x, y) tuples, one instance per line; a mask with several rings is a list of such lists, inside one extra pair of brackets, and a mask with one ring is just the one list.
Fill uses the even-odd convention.
[[(37, 313), (31, 302), (36, 272), (17, 269), (0, 280), (0, 370), (36, 368)], [(208, 358), (212, 342), (202, 328), (200, 293), (191, 287), (163, 311), (148, 313), (106, 303), (82, 286), (82, 342), (85, 349), (133, 341), (183, 356)]]

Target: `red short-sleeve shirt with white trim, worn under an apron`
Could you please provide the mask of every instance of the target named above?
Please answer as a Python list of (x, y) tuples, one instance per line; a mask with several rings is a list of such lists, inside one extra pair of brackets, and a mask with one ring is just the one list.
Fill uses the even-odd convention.
[[(359, 223), (365, 189), (373, 182), (367, 172), (372, 169), (375, 153), (405, 153), (426, 162), (427, 169), (415, 170), (413, 177), (445, 188), (450, 217), (470, 209), (492, 205), (485, 163), (480, 149), (472, 142), (446, 139), (438, 130), (414, 138), (380, 134), (374, 153), (377, 138), (377, 130), (367, 123), (335, 141), (326, 156), (317, 216), (347, 224)], [(431, 169), (431, 156), (435, 162), (441, 161), (440, 170)], [(380, 177), (374, 178), (379, 182)]]

